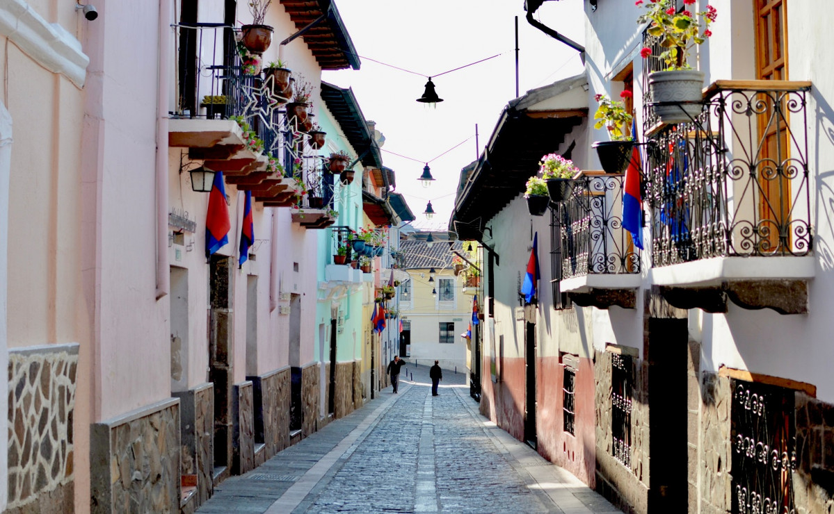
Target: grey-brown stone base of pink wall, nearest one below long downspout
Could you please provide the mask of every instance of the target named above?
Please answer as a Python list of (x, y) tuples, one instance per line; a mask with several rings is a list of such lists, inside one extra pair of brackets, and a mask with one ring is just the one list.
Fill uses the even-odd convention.
[(180, 451), (176, 398), (94, 423), (91, 512), (178, 512)]

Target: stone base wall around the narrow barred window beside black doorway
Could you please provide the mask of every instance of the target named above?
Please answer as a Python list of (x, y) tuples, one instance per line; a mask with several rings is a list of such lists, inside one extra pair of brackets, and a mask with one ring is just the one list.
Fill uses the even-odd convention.
[(648, 364), (632, 359), (631, 467), (613, 457), (611, 435), (611, 354), (595, 352), (596, 491), (621, 511), (648, 512), (649, 409), (646, 386)]

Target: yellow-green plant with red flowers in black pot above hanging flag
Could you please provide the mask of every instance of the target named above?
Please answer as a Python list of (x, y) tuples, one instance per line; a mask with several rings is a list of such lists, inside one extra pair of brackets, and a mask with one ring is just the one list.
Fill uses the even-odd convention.
[(625, 99), (630, 98), (631, 91), (627, 89), (620, 92), (623, 100), (614, 101), (605, 95), (595, 96), (600, 107), (596, 108), (594, 128), (605, 127), (608, 129), (610, 141), (594, 142), (592, 147), (596, 148), (596, 154), (600, 157), (600, 164), (606, 173), (619, 174), (625, 172), (631, 158), (631, 147), (634, 146), (634, 139), (631, 134), (631, 121), (634, 119), (631, 112), (625, 110)]

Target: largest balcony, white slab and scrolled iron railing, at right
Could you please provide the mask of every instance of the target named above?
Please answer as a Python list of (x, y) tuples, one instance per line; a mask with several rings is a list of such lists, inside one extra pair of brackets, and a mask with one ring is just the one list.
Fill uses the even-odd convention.
[(671, 305), (807, 312), (811, 82), (718, 81), (701, 114), (647, 138), (652, 282)]

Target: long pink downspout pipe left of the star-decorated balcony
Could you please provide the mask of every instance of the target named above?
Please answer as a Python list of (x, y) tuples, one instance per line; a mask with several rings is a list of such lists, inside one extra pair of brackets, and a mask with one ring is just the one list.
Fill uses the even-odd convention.
[(173, 0), (159, 0), (159, 70), (157, 80), (156, 299), (168, 295), (171, 271), (168, 263), (168, 85), (171, 80), (171, 22)]

